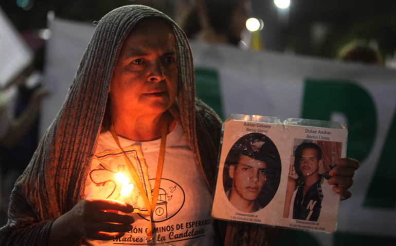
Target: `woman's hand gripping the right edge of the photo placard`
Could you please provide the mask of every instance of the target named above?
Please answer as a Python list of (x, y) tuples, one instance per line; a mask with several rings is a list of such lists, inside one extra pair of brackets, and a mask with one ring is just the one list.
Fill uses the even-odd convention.
[(355, 170), (359, 168), (359, 162), (351, 158), (341, 158), (335, 162), (336, 166), (329, 175), (329, 184), (334, 185), (333, 190), (340, 195), (340, 200), (348, 199), (352, 193), (348, 191), (353, 184), (353, 175)]

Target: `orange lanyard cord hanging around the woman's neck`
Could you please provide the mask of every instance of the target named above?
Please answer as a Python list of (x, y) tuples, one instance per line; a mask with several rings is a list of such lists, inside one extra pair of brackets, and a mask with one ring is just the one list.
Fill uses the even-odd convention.
[(167, 120), (167, 117), (165, 116), (163, 127), (162, 127), (161, 145), (159, 147), (157, 173), (155, 175), (154, 191), (153, 191), (151, 205), (150, 205), (150, 201), (149, 201), (149, 198), (148, 198), (148, 194), (146, 194), (146, 191), (143, 188), (143, 185), (142, 185), (142, 183), (141, 183), (141, 181), (139, 179), (139, 176), (136, 173), (135, 168), (132, 165), (131, 160), (129, 159), (127, 154), (125, 154), (124, 150), (122, 149), (122, 147), (120, 145), (120, 141), (118, 139), (118, 136), (116, 134), (116, 131), (115, 131), (113, 125), (110, 127), (110, 132), (111, 132), (114, 140), (116, 141), (116, 144), (121, 149), (122, 154), (123, 154), (124, 159), (125, 159), (125, 162), (127, 163), (128, 170), (131, 173), (131, 176), (132, 176), (133, 180), (135, 180), (136, 186), (139, 189), (141, 197), (143, 198), (143, 201), (146, 204), (147, 211), (148, 211), (148, 213), (150, 215), (149, 225), (147, 227), (147, 239), (150, 241), (153, 238), (152, 237), (152, 217), (153, 217), (153, 213), (154, 213), (155, 207), (157, 206), (159, 186), (160, 186), (160, 183), (161, 183), (161, 176), (162, 176), (162, 171), (163, 171), (163, 166), (164, 166), (164, 159), (165, 159), (165, 147), (166, 147), (166, 138), (167, 138), (167, 132), (168, 132), (168, 120)]

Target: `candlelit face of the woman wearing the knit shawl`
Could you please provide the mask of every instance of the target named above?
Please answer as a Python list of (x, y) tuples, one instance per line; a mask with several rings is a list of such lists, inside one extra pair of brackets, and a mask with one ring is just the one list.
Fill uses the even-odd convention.
[(141, 20), (122, 45), (110, 85), (112, 111), (161, 114), (177, 93), (172, 29), (160, 19)]

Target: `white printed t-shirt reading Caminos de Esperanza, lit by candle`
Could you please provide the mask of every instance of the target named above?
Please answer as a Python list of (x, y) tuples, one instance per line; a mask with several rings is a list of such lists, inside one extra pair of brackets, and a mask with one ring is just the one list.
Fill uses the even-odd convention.
[[(146, 191), (154, 189), (160, 139), (136, 142), (119, 137), (142, 180)], [(120, 183), (115, 178), (122, 172), (134, 184), (131, 196), (120, 199)], [(100, 197), (128, 201), (135, 212), (147, 212), (127, 164), (110, 132), (101, 134), (85, 183), (85, 197)], [(151, 202), (151, 192), (148, 192)], [(176, 125), (168, 134), (163, 174), (153, 216), (153, 236), (172, 245), (213, 245), (214, 230), (209, 210), (212, 196), (197, 167), (183, 128)], [(111, 241), (83, 239), (83, 245), (141, 245), (148, 226), (147, 215), (133, 213), (133, 230)], [(143, 218), (144, 217), (144, 218)]]

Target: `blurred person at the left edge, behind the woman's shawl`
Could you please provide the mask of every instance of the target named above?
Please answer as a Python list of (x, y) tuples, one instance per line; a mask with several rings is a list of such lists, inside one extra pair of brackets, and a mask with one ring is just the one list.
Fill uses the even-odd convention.
[[(0, 92), (0, 168), (2, 181), (1, 223), (7, 222), (9, 197), (16, 179), (22, 175), (38, 145), (41, 86), (37, 59)], [(41, 66), (42, 68), (42, 66)]]

